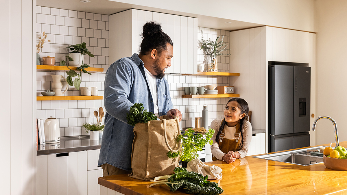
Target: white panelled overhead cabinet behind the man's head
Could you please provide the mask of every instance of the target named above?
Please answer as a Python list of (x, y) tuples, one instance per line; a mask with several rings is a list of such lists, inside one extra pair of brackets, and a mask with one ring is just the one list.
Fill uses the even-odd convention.
[(196, 74), (197, 18), (137, 9), (110, 16), (110, 63), (138, 53), (143, 25), (149, 21), (159, 22), (174, 44), (174, 57), (167, 73)]

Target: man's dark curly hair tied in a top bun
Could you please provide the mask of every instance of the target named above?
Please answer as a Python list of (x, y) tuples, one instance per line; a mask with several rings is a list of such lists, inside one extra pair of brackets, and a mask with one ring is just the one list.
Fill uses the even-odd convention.
[(140, 45), (140, 54), (146, 55), (148, 52), (156, 49), (158, 54), (166, 50), (166, 44), (173, 45), (169, 35), (163, 32), (161, 25), (153, 21), (143, 25), (142, 43)]

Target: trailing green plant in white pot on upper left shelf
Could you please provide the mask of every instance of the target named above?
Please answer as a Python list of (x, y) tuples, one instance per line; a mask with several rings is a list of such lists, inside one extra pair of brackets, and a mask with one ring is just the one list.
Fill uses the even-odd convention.
[[(77, 66), (80, 66), (77, 68), (78, 73), (76, 73), (75, 70), (71, 70), (69, 67), (69, 71), (66, 71), (66, 74), (68, 75), (66, 77), (67, 83), (70, 86), (74, 86), (77, 90), (79, 90), (79, 86), (81, 85), (81, 71), (83, 73), (87, 73), (89, 75), (91, 75), (90, 73), (88, 73), (88, 71), (85, 70), (85, 68), (90, 67), (89, 65), (87, 65), (86, 63), (83, 63), (83, 55), (88, 55), (90, 57), (94, 58), (94, 55), (88, 51), (87, 47), (86, 47), (86, 43), (83, 42), (82, 44), (76, 44), (76, 45), (70, 45), (67, 47), (69, 50), (71, 50), (71, 52), (69, 52), (65, 57), (66, 60), (61, 60), (60, 61), (60, 66), (66, 66), (67, 65), (67, 60), (69, 59), (69, 65), (71, 65), (71, 63), (73, 62), (77, 62)], [(76, 66), (75, 64), (73, 64), (73, 66)], [(73, 81), (73, 77), (78, 76), (78, 78), (75, 78), (75, 80)]]

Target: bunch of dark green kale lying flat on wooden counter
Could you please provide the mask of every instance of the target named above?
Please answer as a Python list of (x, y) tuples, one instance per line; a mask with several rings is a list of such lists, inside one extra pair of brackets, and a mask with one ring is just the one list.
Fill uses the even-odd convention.
[(176, 167), (174, 172), (172, 175), (154, 178), (154, 180), (151, 180), (154, 184), (150, 185), (150, 187), (165, 184), (170, 187), (171, 192), (182, 188), (187, 194), (198, 195), (218, 195), (223, 192), (223, 189), (218, 187), (217, 183), (207, 181), (207, 175), (203, 176), (194, 171), (187, 171), (186, 168), (182, 167)]

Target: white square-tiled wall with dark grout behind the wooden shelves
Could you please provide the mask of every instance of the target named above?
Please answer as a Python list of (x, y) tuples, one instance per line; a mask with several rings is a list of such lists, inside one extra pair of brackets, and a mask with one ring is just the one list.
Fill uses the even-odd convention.
[[(92, 73), (92, 75), (82, 74), (82, 86), (96, 86), (99, 89), (99, 95), (103, 95), (103, 86), (105, 72), (109, 67), (109, 16), (80, 12), (74, 10), (56, 9), (37, 6), (37, 40), (42, 32), (48, 33), (48, 40), (44, 43), (44, 50), (40, 52), (41, 59), (44, 56), (53, 56), (56, 58), (56, 65), (63, 60), (68, 53), (66, 47), (71, 44), (86, 42), (87, 48), (95, 58), (84, 57), (84, 62), (91, 67), (104, 68), (103, 73)], [(203, 30), (205, 39), (216, 39), (217, 36), (224, 36), (224, 41), (229, 44), (229, 33), (219, 29), (210, 29), (199, 27), (198, 37), (200, 39), (200, 30)], [(198, 63), (204, 62), (204, 56), (200, 49), (198, 50)], [(218, 57), (218, 68), (220, 72), (229, 72), (229, 57)], [(37, 71), (37, 95), (42, 91), (51, 90), (52, 78), (50, 75), (63, 75), (65, 72)], [(228, 98), (181, 98), (186, 86), (204, 86), (217, 84), (218, 86), (229, 85), (229, 77), (211, 77), (211, 76), (183, 76), (166, 75), (170, 85), (170, 95), (174, 108), (181, 111), (183, 120), (180, 122), (181, 128), (194, 127), (194, 117), (202, 116), (203, 104), (208, 106), (209, 123), (219, 114), (223, 113), (223, 108)], [(63, 84), (65, 89), (66, 84)], [(79, 95), (75, 87), (69, 86), (64, 95)], [(85, 135), (85, 130), (81, 125), (86, 122), (96, 122), (93, 115), (94, 110), (104, 107), (103, 100), (64, 100), (64, 101), (37, 101), (37, 118), (47, 118), (54, 116), (60, 122), (60, 136)]]

